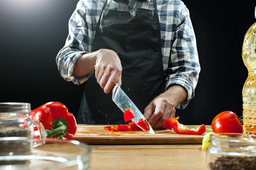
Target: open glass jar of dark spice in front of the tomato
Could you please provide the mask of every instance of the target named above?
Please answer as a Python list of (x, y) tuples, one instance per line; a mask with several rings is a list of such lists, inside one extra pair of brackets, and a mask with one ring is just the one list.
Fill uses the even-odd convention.
[(218, 133), (210, 136), (209, 143), (209, 170), (255, 170), (256, 135)]

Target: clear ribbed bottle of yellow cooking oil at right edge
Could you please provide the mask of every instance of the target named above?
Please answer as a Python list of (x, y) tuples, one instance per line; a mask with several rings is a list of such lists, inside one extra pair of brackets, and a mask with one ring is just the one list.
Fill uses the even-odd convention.
[(256, 22), (245, 34), (242, 56), (248, 69), (248, 77), (242, 92), (243, 131), (248, 134), (256, 134)]

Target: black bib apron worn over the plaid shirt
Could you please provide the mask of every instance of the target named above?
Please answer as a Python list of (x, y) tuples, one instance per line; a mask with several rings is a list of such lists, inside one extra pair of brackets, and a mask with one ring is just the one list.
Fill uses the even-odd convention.
[[(123, 68), (121, 88), (141, 113), (160, 93), (164, 92), (165, 75), (162, 63), (159, 18), (155, 11), (105, 10), (103, 5), (92, 51), (112, 49)], [(107, 57), (107, 56), (106, 56)], [(91, 76), (85, 83), (78, 124), (127, 124), (122, 111), (112, 101), (112, 91), (104, 93)]]

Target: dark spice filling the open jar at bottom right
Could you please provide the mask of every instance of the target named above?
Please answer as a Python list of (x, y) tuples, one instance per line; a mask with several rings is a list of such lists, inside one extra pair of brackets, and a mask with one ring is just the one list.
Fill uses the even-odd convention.
[(255, 170), (256, 157), (221, 156), (209, 163), (211, 170)]

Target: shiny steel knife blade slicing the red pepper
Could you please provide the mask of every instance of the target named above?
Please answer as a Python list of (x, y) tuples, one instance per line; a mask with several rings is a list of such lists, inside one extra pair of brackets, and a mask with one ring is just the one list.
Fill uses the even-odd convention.
[[(115, 102), (115, 104), (124, 112), (127, 108), (130, 108), (132, 110), (133, 115), (135, 116), (132, 121), (135, 121), (135, 123), (139, 119), (143, 119), (148, 123), (146, 118), (142, 115), (142, 113), (139, 111), (137, 106), (131, 101), (131, 99), (124, 93), (124, 91), (121, 89), (118, 83), (115, 84), (112, 90), (112, 100)], [(142, 129), (142, 128), (141, 128)], [(151, 126), (148, 124), (148, 132), (155, 134), (154, 130), (151, 128)], [(143, 130), (143, 129), (142, 129)]]

